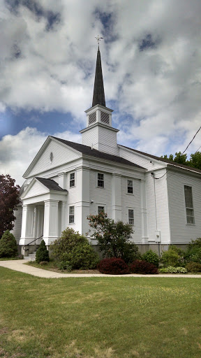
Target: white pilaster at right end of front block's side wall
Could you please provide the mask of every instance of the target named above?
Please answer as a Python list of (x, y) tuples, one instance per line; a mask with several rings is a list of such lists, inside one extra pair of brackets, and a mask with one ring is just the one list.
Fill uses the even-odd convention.
[(147, 243), (148, 227), (147, 227), (147, 196), (146, 196), (145, 180), (140, 180), (140, 199), (141, 199), (141, 220), (142, 220), (142, 243)]

